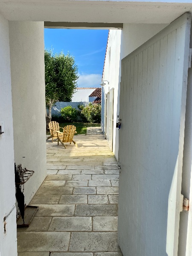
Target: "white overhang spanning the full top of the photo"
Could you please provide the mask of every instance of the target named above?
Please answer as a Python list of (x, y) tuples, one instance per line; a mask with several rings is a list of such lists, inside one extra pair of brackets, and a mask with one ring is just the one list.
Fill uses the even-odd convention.
[(175, 0), (177, 3), (166, 2), (0, 0), (0, 13), (7, 20), (167, 24), (192, 11), (192, 0), (185, 0), (185, 3), (178, 0)]

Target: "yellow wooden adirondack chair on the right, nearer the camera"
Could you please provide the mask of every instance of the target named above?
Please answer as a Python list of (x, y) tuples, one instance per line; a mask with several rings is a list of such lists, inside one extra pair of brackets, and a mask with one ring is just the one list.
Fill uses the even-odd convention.
[(73, 140), (73, 136), (76, 132), (76, 126), (74, 125), (67, 125), (63, 128), (63, 132), (57, 131), (57, 144), (59, 145), (59, 141), (61, 144), (66, 148), (65, 143), (69, 142), (70, 144), (73, 142), (76, 147), (77, 143)]

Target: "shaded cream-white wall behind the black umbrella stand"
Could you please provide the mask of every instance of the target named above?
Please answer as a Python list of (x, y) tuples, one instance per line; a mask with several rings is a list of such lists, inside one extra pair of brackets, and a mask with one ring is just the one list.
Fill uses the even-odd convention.
[(9, 22), (16, 165), (35, 171), (25, 183), (29, 204), (47, 175), (44, 23)]

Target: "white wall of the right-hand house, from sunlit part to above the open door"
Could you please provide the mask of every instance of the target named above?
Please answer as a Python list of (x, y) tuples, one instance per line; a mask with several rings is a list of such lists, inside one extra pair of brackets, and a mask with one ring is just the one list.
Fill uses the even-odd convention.
[(129, 53), (144, 44), (148, 39), (162, 30), (166, 24), (127, 24), (123, 23), (123, 29), (110, 30), (108, 49), (105, 59), (103, 80), (108, 80), (102, 88), (102, 131), (104, 132), (104, 95), (114, 87), (113, 108), (113, 153), (118, 160), (119, 132), (116, 128), (119, 115), (119, 86), (121, 79), (121, 60)]

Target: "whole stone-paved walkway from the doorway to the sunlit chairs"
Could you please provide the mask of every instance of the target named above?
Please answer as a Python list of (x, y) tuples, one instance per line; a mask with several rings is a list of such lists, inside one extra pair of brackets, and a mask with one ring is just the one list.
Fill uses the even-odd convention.
[(100, 128), (67, 148), (47, 142), (48, 176), (31, 205), (39, 210), (17, 229), (18, 256), (122, 256), (117, 243), (116, 160)]

